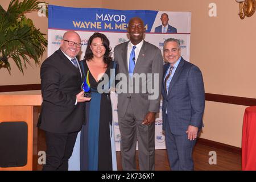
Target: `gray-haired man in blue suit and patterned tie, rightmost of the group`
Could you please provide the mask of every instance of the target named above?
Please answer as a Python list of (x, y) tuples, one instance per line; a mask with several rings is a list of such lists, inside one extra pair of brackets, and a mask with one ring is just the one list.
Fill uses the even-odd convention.
[(172, 170), (193, 170), (192, 152), (203, 127), (204, 82), (196, 65), (180, 56), (177, 39), (164, 41), (163, 130)]

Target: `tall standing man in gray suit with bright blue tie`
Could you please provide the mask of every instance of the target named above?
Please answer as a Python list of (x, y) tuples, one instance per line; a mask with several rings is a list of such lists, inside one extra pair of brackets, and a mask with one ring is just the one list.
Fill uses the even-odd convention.
[[(114, 49), (114, 60), (118, 63), (119, 73), (123, 73), (127, 78), (125, 82), (127, 90), (118, 94), (122, 168), (123, 170), (136, 170), (135, 154), (138, 139), (139, 168), (154, 170), (154, 122), (155, 114), (159, 112), (163, 57), (159, 48), (143, 40), (145, 28), (141, 18), (131, 18), (127, 32), (130, 41), (119, 44)], [(139, 84), (129, 82), (135, 75), (141, 76)], [(143, 84), (147, 87), (154, 85), (155, 92), (152, 93), (152, 89), (143, 92), (145, 89)], [(133, 92), (129, 92), (129, 88), (133, 88)], [(134, 93), (134, 89), (139, 89), (140, 92)], [(150, 97), (152, 94), (155, 96)]]

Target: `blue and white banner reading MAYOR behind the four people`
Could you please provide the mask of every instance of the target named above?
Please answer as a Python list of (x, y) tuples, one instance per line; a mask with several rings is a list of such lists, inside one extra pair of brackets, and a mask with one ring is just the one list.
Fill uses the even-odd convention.
[[(160, 26), (160, 16), (167, 13), (169, 24), (177, 28), (177, 34), (155, 33), (155, 27)], [(112, 50), (117, 44), (126, 42), (126, 28), (130, 18), (140, 17), (146, 27), (145, 40), (163, 50), (163, 42), (168, 38), (179, 39), (181, 43), (181, 55), (189, 61), (189, 44), (191, 32), (191, 13), (172, 11), (149, 10), (110, 10), (98, 8), (73, 8), (61, 6), (48, 6), (48, 56), (52, 55), (60, 47), (62, 35), (67, 30), (75, 30), (81, 37), (81, 58), (84, 57), (89, 37), (94, 32), (102, 32), (110, 40)], [(120, 150), (120, 133), (117, 117), (117, 94), (111, 95), (113, 105), (113, 124), (116, 151)], [(155, 121), (155, 148), (166, 148), (164, 135), (162, 134), (162, 102), (159, 114)]]

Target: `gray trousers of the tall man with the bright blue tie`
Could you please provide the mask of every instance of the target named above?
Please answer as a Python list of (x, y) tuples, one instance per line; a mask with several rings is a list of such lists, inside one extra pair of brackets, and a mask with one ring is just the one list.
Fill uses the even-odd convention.
[(121, 133), (121, 159), (125, 171), (136, 170), (136, 143), (138, 139), (139, 169), (155, 169), (155, 123), (142, 125), (136, 119), (129, 102), (124, 117), (118, 117)]

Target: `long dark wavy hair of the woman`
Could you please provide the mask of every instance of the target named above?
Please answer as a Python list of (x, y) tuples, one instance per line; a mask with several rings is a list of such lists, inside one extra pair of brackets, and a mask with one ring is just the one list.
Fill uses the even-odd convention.
[(109, 39), (106, 37), (106, 35), (101, 34), (99, 32), (95, 32), (92, 36), (90, 36), (88, 40), (87, 48), (85, 51), (84, 60), (90, 61), (93, 58), (93, 53), (92, 53), (92, 49), (90, 49), (90, 46), (92, 45), (92, 41), (95, 38), (100, 38), (103, 46), (106, 48), (106, 52), (104, 54), (103, 60), (104, 60), (104, 63), (106, 64), (106, 67), (108, 68), (110, 65), (110, 62), (113, 60), (111, 57), (112, 52), (109, 46)]

